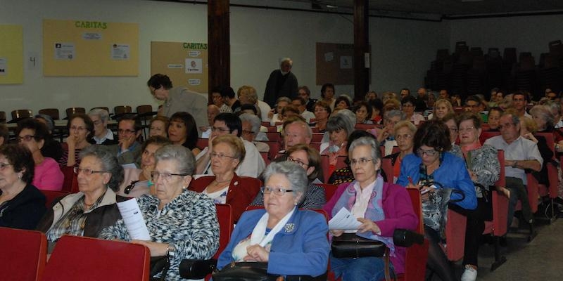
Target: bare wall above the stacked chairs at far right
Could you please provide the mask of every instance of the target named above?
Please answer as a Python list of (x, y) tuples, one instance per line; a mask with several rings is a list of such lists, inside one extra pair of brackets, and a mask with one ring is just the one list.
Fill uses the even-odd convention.
[(475, 20), (451, 20), (450, 52), (456, 41), (467, 41), (470, 47), (517, 48), (517, 53), (531, 52), (540, 60), (540, 53), (549, 52), (549, 42), (563, 39), (563, 15), (536, 15), (510, 18), (483, 18)]

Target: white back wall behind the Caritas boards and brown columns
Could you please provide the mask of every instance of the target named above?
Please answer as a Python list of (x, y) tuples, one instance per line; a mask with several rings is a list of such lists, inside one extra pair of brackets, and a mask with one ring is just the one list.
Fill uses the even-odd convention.
[[(24, 56), (39, 53), (39, 64), (25, 64), (24, 83), (0, 85), (0, 110), (157, 105), (146, 89), (151, 41), (207, 42), (207, 6), (146, 0), (1, 0), (0, 24), (23, 25)], [(139, 77), (43, 77), (42, 20), (96, 20), (139, 23)], [(289, 56), (299, 84), (315, 86), (315, 43), (353, 43), (351, 15), (231, 8), (231, 77), (236, 89), (248, 84), (261, 93), (277, 60)], [(378, 92), (422, 85), (436, 49), (450, 43), (444, 22), (370, 18), (372, 87)], [(353, 93), (352, 86), (336, 86)], [(9, 117), (8, 117), (9, 119)]]

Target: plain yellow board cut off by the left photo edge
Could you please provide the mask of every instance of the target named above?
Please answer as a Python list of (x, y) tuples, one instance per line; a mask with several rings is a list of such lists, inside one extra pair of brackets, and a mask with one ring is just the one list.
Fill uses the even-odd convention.
[(0, 84), (23, 83), (23, 27), (0, 25)]

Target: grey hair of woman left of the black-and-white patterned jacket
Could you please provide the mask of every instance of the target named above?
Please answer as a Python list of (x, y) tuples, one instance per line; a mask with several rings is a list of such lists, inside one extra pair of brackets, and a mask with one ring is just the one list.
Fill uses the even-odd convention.
[(102, 171), (111, 174), (107, 185), (108, 188), (117, 192), (124, 177), (123, 167), (119, 164), (118, 158), (103, 145), (90, 145), (80, 152), (80, 159), (88, 156), (96, 157), (101, 162)]

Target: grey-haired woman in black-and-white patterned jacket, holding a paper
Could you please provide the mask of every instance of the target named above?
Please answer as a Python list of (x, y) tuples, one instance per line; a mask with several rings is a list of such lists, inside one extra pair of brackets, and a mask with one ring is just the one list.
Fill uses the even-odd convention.
[(144, 244), (151, 256), (170, 254), (166, 280), (180, 280), (182, 259), (210, 259), (219, 247), (215, 204), (206, 195), (186, 190), (194, 172), (194, 155), (182, 145), (165, 145), (155, 153), (152, 181), (156, 195), (142, 195), (139, 208), (151, 241), (131, 240), (122, 220), (102, 231), (103, 239)]

